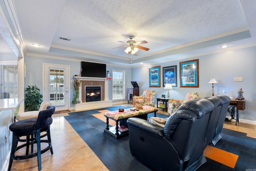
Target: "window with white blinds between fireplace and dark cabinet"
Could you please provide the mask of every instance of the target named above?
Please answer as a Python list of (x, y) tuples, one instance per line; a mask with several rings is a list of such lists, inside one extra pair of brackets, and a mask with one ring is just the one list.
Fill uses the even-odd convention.
[(124, 78), (125, 71), (121, 70), (113, 70), (112, 71), (112, 97), (115, 99), (124, 99), (125, 91), (124, 91)]

